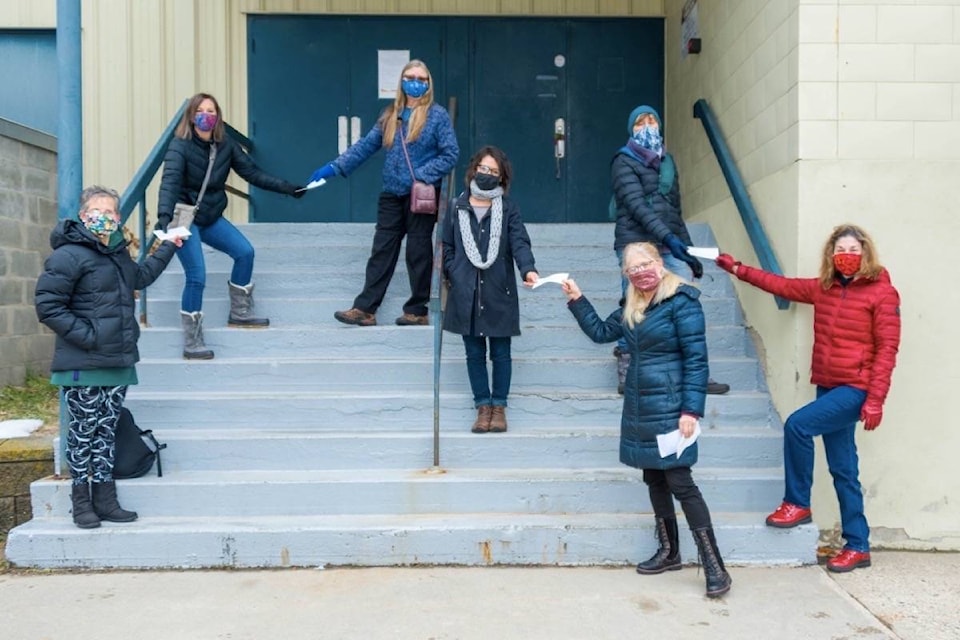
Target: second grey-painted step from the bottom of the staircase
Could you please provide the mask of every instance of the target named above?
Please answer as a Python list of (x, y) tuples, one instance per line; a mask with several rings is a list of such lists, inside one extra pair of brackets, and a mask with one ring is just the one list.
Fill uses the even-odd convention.
[[(611, 461), (610, 464), (616, 464)], [(779, 468), (694, 468), (711, 509), (761, 511), (780, 504)], [(635, 469), (413, 469), (182, 471), (117, 483), (128, 509), (150, 516), (308, 516), (431, 513), (633, 513), (650, 511)], [(70, 482), (30, 487), (33, 513), (66, 518)], [(772, 506), (771, 506), (772, 505)]]

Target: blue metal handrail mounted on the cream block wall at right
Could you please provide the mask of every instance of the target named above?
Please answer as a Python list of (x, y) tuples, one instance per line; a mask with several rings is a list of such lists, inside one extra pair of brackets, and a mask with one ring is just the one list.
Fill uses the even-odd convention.
[[(714, 155), (717, 156), (720, 171), (723, 172), (723, 177), (727, 181), (727, 187), (730, 189), (733, 201), (737, 205), (737, 211), (740, 212), (740, 219), (743, 221), (743, 226), (747, 230), (747, 236), (750, 238), (753, 250), (760, 259), (760, 266), (766, 271), (782, 276), (783, 270), (780, 268), (780, 262), (773, 252), (773, 247), (767, 237), (767, 232), (763, 228), (763, 223), (760, 222), (757, 210), (753, 208), (750, 194), (747, 193), (747, 186), (740, 176), (740, 170), (737, 169), (733, 154), (730, 153), (727, 141), (723, 137), (720, 124), (717, 122), (717, 117), (714, 115), (713, 109), (710, 108), (710, 105), (703, 98), (700, 98), (693, 104), (693, 117), (699, 118), (700, 122), (703, 123), (703, 130), (707, 134), (710, 146), (713, 147)], [(774, 298), (777, 302), (777, 308), (781, 311), (790, 308), (790, 301), (786, 298), (781, 298), (780, 296), (774, 296)]]

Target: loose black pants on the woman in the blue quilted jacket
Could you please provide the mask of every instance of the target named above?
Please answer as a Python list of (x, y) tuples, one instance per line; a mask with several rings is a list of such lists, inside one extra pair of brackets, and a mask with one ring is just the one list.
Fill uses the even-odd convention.
[(410, 299), (404, 313), (427, 315), (430, 301), (430, 272), (433, 268), (433, 227), (436, 215), (410, 212), (410, 196), (381, 193), (377, 202), (377, 227), (373, 248), (367, 260), (363, 291), (353, 306), (367, 313), (376, 313), (383, 303), (387, 286), (393, 278), (400, 257), (400, 243), (407, 236), (407, 274), (410, 277)]

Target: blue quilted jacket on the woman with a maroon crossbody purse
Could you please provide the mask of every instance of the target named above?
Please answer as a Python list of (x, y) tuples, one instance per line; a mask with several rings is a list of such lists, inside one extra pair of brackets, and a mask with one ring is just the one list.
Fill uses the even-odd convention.
[[(334, 160), (334, 165), (341, 175), (349, 176), (381, 147), (383, 147), (383, 130), (377, 122), (367, 135)], [(450, 173), (460, 155), (457, 136), (446, 109), (436, 104), (430, 105), (423, 130), (416, 140), (407, 141), (407, 151), (410, 153), (410, 163), (413, 165), (413, 173), (417, 176), (417, 180), (436, 185), (439, 189), (443, 176)], [(410, 193), (412, 185), (413, 180), (410, 177), (407, 159), (403, 155), (398, 128), (393, 145), (387, 149), (387, 158), (383, 163), (383, 190), (394, 195), (405, 196)]]

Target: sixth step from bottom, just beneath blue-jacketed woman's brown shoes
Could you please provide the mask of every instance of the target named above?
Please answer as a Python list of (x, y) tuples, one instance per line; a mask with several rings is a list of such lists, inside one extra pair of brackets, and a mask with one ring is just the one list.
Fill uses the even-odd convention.
[[(545, 354), (562, 349), (570, 357), (597, 356), (612, 353), (612, 346), (604, 347), (587, 338), (573, 322), (566, 326), (537, 326), (523, 331), (511, 342), (515, 356)], [(303, 354), (339, 353), (356, 355), (414, 357), (433, 354), (433, 331), (411, 331), (410, 327), (385, 325), (376, 332), (346, 331), (339, 322), (308, 325), (276, 325), (263, 330), (234, 329), (223, 326), (204, 326), (204, 339), (211, 349), (223, 350), (225, 356), (248, 357), (264, 353), (278, 357)], [(183, 348), (183, 332), (180, 327), (153, 326), (144, 329), (138, 343), (140, 357), (164, 358), (179, 353)], [(463, 340), (459, 335), (443, 333), (443, 348), (450, 355), (463, 353)], [(707, 327), (707, 348), (712, 357), (737, 356), (752, 348), (746, 329), (739, 325), (714, 325)], [(610, 361), (614, 358), (611, 355)]]

